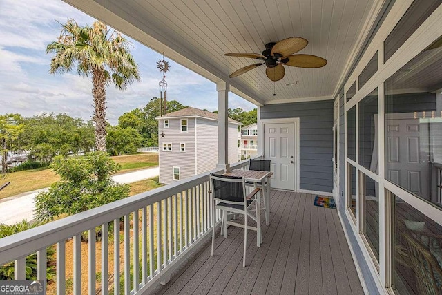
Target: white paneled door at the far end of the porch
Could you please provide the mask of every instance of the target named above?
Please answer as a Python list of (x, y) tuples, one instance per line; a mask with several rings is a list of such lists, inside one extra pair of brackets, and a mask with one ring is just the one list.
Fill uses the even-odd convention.
[(264, 157), (271, 160), (271, 187), (294, 190), (294, 123), (264, 124)]

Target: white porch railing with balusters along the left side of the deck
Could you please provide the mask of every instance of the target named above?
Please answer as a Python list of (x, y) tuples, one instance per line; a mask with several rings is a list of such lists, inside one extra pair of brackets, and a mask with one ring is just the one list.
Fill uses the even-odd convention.
[[(232, 164), (233, 169), (248, 169), (249, 161)], [(186, 253), (191, 253), (205, 236), (210, 236), (211, 195), (209, 173), (146, 191), (74, 216), (0, 239), (0, 265), (15, 262), (15, 280), (26, 278), (26, 256), (37, 253), (37, 280), (46, 280), (46, 249), (56, 245), (57, 294), (82, 294), (81, 247), (88, 247), (88, 294), (97, 287), (102, 294), (137, 294), (155, 282), (166, 283)], [(220, 220), (220, 213), (215, 213)], [(121, 221), (122, 220), (122, 221)], [(137, 220), (137, 222), (135, 222)], [(120, 222), (123, 234), (120, 239)], [(109, 237), (113, 225), (113, 237)], [(102, 229), (101, 263), (96, 260), (95, 229)], [(88, 231), (88, 244), (81, 234)], [(112, 234), (112, 232), (111, 232)], [(66, 242), (72, 240), (73, 257), (66, 260)], [(113, 255), (109, 251), (113, 243)], [(120, 247), (122, 254), (120, 255)], [(111, 257), (110, 257), (111, 256)], [(120, 258), (121, 257), (121, 258)], [(113, 271), (108, 271), (110, 258)], [(71, 260), (72, 259), (72, 260)], [(72, 290), (66, 289), (66, 263), (73, 263)], [(101, 282), (96, 269), (101, 268)], [(133, 274), (131, 276), (131, 274)], [(98, 276), (99, 277), (99, 276)], [(124, 287), (120, 290), (120, 280)]]

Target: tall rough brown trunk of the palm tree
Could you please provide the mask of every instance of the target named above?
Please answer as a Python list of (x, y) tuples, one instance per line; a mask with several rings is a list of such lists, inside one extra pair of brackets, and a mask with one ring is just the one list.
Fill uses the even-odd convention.
[(102, 69), (93, 70), (92, 84), (95, 148), (97, 151), (106, 151), (106, 77)]

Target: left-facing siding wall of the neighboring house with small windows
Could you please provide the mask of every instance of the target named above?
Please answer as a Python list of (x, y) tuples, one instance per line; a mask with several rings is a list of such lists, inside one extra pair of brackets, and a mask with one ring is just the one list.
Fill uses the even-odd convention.
[[(159, 120), (158, 146), (160, 148), (160, 182), (170, 184), (173, 182), (172, 167), (181, 169), (181, 180), (195, 175), (195, 119), (187, 118), (187, 133), (181, 133), (181, 120), (169, 119), (169, 128), (164, 128), (164, 120)], [(164, 132), (164, 138), (161, 133)], [(163, 143), (171, 142), (172, 151), (163, 151)], [(180, 151), (180, 143), (186, 144), (186, 151)]]

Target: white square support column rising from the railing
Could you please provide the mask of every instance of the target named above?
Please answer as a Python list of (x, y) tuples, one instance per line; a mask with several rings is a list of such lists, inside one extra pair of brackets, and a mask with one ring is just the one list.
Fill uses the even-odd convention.
[(218, 82), (218, 164), (217, 168), (229, 170), (229, 122), (227, 109), (229, 108), (229, 84)]

